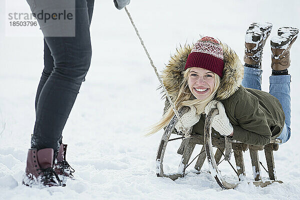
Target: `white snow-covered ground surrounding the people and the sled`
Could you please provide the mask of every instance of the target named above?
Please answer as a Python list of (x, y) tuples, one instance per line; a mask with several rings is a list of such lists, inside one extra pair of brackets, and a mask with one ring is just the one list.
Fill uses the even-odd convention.
[[(1, 1), (0, 11), (4, 11)], [(298, 0), (131, 0), (128, 10), (159, 70), (176, 46), (199, 34), (219, 38), (243, 56), (244, 32), (253, 21), (300, 28)], [(4, 17), (4, 16), (3, 16)], [(172, 181), (158, 178), (154, 159), (162, 132), (144, 137), (162, 113), (158, 80), (124, 10), (112, 0), (96, 0), (91, 24), (93, 56), (86, 81), (63, 130), (67, 160), (76, 180), (66, 187), (29, 188), (21, 184), (34, 124), (34, 97), (41, 70), (42, 37), (5, 37), (0, 25), (0, 199), (300, 199), (300, 41), (291, 50), (292, 135), (274, 152), (277, 178), (260, 188), (240, 184), (221, 190), (209, 173)], [(300, 40), (300, 39), (298, 39)], [(263, 90), (270, 74), (269, 39), (263, 53)], [(165, 170), (176, 171), (179, 143), (167, 149)], [(197, 148), (200, 148), (197, 147)], [(246, 175), (252, 169), (244, 154)], [(265, 164), (263, 154), (261, 161)], [(234, 163), (234, 161), (232, 160)], [(205, 163), (203, 166), (207, 169)], [(234, 176), (225, 162), (220, 169)], [(266, 177), (266, 172), (263, 172)]]

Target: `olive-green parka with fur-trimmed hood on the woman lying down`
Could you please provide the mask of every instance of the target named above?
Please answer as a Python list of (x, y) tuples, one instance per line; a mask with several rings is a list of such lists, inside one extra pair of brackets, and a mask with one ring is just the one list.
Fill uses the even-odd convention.
[[(284, 125), (284, 112), (277, 98), (271, 94), (241, 86), (243, 65), (236, 53), (221, 43), (224, 56), (223, 77), (217, 89), (215, 99), (221, 101), (233, 126), (233, 139), (253, 144), (265, 145), (276, 138)], [(162, 72), (165, 85), (172, 100), (175, 100), (180, 83), (183, 80), (184, 66), (192, 46), (185, 45), (169, 60)], [(169, 107), (166, 100), (165, 108)], [(203, 134), (205, 115), (193, 125), (192, 133)], [(212, 136), (221, 135), (212, 128)]]

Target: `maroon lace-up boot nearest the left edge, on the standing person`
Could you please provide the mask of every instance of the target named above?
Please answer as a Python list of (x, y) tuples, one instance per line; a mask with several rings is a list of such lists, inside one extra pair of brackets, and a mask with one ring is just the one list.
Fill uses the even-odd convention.
[(52, 168), (53, 156), (54, 150), (52, 148), (28, 149), (23, 184), (27, 186), (37, 185), (39, 187), (60, 185), (60, 180)]

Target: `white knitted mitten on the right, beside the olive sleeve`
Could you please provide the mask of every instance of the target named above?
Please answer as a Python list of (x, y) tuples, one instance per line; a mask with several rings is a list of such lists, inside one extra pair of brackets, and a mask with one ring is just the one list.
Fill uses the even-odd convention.
[(211, 108), (217, 108), (218, 114), (213, 117), (211, 126), (222, 135), (228, 136), (233, 132), (233, 127), (226, 115), (224, 105), (220, 101), (210, 101), (204, 109), (207, 115)]

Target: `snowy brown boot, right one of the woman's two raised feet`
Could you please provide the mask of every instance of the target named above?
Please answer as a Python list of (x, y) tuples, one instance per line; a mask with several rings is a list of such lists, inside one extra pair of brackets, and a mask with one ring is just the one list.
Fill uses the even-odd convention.
[(289, 49), (296, 40), (299, 29), (293, 27), (280, 27), (276, 36), (271, 38), (271, 51), (273, 70), (284, 70), (290, 65)]

